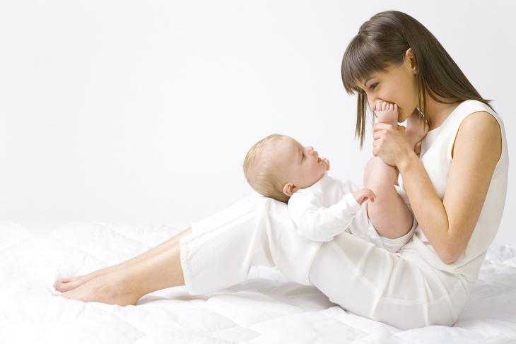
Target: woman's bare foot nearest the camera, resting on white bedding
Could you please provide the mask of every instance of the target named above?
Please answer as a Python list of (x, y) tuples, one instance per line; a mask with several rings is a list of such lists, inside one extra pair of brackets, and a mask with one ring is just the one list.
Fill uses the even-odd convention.
[(124, 283), (123, 273), (113, 271), (98, 275), (73, 290), (64, 292), (61, 295), (65, 299), (75, 299), (83, 302), (102, 302), (105, 304), (118, 304), (127, 306), (136, 305), (139, 295), (136, 295), (127, 283)]

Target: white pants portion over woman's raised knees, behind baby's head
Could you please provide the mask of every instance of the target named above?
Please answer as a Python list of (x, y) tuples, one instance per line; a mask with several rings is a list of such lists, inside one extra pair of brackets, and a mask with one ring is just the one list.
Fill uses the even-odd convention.
[(320, 242), (298, 235), (286, 203), (253, 193), (192, 223), (181, 239), (184, 282), (192, 295), (221, 290), (246, 278), (251, 266), (277, 266), (287, 278), (311, 285), (308, 272)]

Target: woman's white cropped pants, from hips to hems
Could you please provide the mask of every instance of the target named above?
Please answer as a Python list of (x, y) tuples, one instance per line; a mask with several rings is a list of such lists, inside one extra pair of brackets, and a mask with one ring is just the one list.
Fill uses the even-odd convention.
[(409, 245), (393, 254), (348, 232), (329, 242), (305, 239), (286, 203), (257, 193), (191, 227), (180, 239), (191, 295), (242, 283), (251, 266), (277, 266), (342, 308), (403, 329), (451, 326), (469, 297), (470, 283), (432, 268)]

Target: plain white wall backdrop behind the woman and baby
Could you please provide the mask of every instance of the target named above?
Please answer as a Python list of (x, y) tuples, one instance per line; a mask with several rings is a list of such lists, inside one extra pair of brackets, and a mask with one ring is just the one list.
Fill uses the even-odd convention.
[[(361, 183), (341, 58), (390, 9), (494, 100), (516, 161), (510, 1), (1, 1), (0, 221), (187, 225), (250, 194), (243, 158), (274, 132)], [(509, 183), (496, 242), (516, 242)]]

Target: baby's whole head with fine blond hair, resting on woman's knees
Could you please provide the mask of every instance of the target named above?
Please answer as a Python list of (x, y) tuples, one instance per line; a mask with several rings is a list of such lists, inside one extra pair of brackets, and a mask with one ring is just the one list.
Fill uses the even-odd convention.
[(321, 179), (327, 170), (313, 147), (280, 134), (254, 143), (245, 155), (243, 167), (254, 191), (285, 203), (295, 191)]

